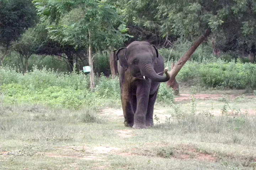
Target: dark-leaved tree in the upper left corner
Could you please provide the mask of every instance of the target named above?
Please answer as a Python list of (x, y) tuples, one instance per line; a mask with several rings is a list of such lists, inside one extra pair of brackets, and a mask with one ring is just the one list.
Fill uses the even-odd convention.
[(0, 0), (0, 66), (8, 55), (11, 42), (37, 22), (31, 0)]

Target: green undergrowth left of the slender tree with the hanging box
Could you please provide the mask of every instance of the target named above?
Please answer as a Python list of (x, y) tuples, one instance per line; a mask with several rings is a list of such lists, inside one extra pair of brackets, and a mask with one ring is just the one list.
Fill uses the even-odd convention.
[(7, 103), (43, 103), (76, 109), (93, 104), (87, 100), (94, 95), (89, 94), (89, 77), (82, 73), (59, 74), (36, 67), (24, 75), (11, 68), (1, 68), (0, 72), (0, 87)]

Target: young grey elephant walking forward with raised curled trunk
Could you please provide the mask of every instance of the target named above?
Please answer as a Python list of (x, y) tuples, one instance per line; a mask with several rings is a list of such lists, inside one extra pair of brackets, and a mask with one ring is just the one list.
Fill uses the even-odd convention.
[(157, 48), (146, 41), (133, 41), (118, 49), (116, 57), (124, 125), (134, 129), (153, 126), (160, 82), (170, 79), (164, 59)]

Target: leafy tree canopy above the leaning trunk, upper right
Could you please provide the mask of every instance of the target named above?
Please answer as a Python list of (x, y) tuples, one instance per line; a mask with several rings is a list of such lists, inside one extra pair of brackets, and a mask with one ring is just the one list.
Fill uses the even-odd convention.
[(210, 28), (222, 51), (256, 53), (255, 0), (119, 0), (130, 27), (191, 40)]

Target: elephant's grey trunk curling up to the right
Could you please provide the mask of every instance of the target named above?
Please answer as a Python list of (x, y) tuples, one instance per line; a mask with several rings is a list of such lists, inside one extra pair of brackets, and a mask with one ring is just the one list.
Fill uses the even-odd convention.
[(157, 74), (151, 63), (145, 64), (141, 69), (141, 73), (143, 76), (157, 82), (165, 82), (170, 79), (170, 75), (167, 72), (165, 73), (166, 76)]

